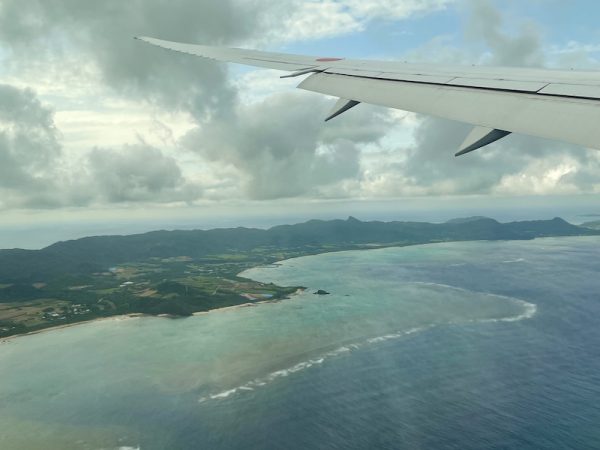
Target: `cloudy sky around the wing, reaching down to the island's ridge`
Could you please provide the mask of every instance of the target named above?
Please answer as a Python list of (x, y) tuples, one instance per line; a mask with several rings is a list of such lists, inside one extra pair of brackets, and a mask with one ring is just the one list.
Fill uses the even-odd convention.
[(597, 150), (511, 135), (455, 158), (467, 125), (369, 105), (325, 124), (335, 99), (298, 79), (133, 39), (599, 70), (599, 13), (591, 0), (0, 0), (0, 247), (496, 205), (600, 213)]

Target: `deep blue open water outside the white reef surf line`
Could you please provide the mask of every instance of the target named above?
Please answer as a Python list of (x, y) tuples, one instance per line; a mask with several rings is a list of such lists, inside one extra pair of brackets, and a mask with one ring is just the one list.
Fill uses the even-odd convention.
[[(598, 244), (450, 244), (464, 252), (460, 270), (446, 262), (388, 267), (408, 269), (399, 275), (403, 280), (526, 299), (537, 313), (512, 323), (436, 327), (303, 372), (270, 396), (259, 420), (243, 427), (247, 443), (600, 448)], [(252, 403), (245, 406), (240, 417), (252, 414)], [(238, 437), (226, 439), (226, 446), (242, 448)]]

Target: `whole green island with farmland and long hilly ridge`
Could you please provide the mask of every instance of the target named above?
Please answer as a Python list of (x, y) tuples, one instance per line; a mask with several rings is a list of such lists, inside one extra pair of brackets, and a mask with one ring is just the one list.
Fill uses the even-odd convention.
[[(154, 231), (0, 250), (0, 337), (116, 315), (185, 317), (277, 301), (302, 286), (245, 279), (246, 269), (342, 250), (550, 236), (600, 235), (563, 219), (500, 223), (310, 220), (270, 229)], [(325, 294), (325, 291), (317, 291)]]

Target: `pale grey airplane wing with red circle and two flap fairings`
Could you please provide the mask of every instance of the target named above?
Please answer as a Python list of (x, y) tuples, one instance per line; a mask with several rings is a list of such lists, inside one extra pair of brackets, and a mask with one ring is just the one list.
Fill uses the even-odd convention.
[(309, 75), (300, 89), (340, 99), (326, 120), (370, 103), (474, 125), (457, 156), (510, 133), (600, 148), (600, 72), (420, 65), (137, 39), (218, 61), (290, 72), (283, 77)]

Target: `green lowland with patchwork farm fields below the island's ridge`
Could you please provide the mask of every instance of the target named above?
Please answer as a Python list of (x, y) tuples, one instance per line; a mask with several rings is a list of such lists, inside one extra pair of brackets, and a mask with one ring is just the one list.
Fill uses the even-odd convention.
[(288, 256), (257, 250), (196, 259), (155, 257), (88, 275), (0, 284), (0, 337), (119, 314), (187, 316), (277, 300), (299, 289), (238, 277), (247, 268)]

